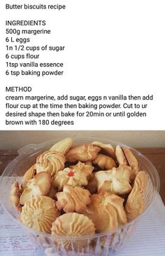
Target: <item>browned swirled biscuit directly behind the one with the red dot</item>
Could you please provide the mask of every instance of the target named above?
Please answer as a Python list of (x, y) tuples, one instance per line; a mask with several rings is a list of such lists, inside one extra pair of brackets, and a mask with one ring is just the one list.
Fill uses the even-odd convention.
[(74, 163), (76, 161), (86, 162), (96, 159), (97, 154), (101, 149), (92, 144), (83, 144), (76, 147), (71, 147), (66, 153), (66, 160)]

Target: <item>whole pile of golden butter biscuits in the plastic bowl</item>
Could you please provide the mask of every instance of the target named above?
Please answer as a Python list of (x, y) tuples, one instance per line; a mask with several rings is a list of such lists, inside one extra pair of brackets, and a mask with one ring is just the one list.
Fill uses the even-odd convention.
[(20, 221), (36, 231), (92, 236), (138, 217), (147, 183), (128, 147), (99, 141), (73, 146), (68, 137), (40, 154), (20, 184), (13, 183), (10, 201)]

